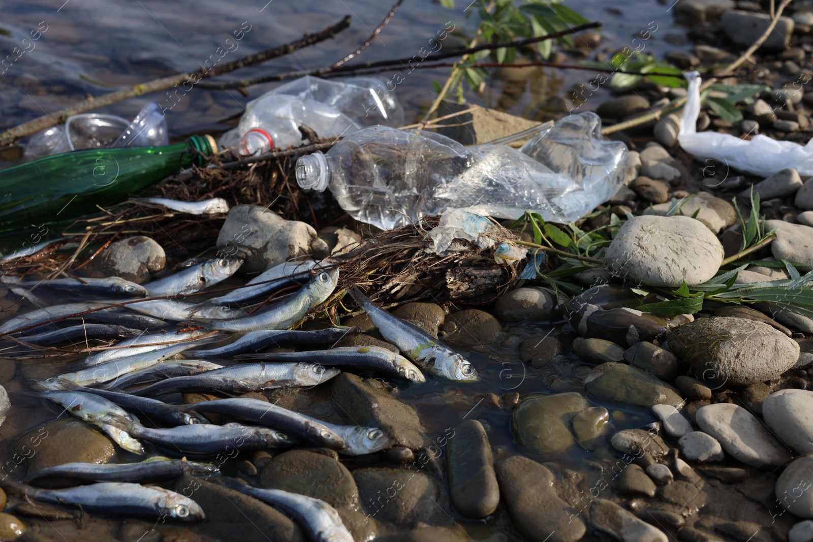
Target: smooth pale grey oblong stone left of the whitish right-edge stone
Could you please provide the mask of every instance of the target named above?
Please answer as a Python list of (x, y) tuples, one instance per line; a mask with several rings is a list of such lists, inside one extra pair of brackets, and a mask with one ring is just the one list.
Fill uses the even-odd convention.
[(772, 468), (790, 459), (785, 445), (754, 414), (732, 403), (706, 405), (695, 419), (702, 431), (715, 437), (728, 455), (746, 465)]

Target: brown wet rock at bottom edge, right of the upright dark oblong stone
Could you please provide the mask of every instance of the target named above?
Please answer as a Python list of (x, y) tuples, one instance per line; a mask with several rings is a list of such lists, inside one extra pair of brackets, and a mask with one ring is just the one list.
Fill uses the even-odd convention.
[(576, 542), (587, 530), (573, 509), (559, 498), (554, 475), (528, 457), (506, 457), (494, 465), (502, 499), (515, 527), (531, 542)]

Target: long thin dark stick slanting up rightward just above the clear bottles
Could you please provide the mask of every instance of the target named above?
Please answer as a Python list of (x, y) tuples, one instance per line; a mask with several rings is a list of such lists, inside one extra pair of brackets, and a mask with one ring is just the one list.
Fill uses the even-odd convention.
[[(464, 54), (476, 53), (477, 51), (481, 50), (502, 49), (503, 47), (524, 47), (531, 45), (533, 43), (537, 43), (539, 41), (553, 40), (557, 37), (563, 37), (570, 34), (579, 33), (582, 30), (588, 30), (589, 28), (598, 28), (601, 25), (602, 24), (598, 22), (581, 24), (580, 26), (568, 28), (567, 30), (563, 30), (561, 32), (546, 34), (545, 36), (529, 37), (524, 40), (505, 41), (502, 43), (485, 44), (482, 46), (470, 47), (467, 49), (454, 50), (448, 53), (428, 54), (425, 57), (419, 56), (418, 58), (421, 59), (420, 61), (421, 63), (424, 63), (426, 61), (433, 62), (435, 60), (451, 59)], [(376, 62), (362, 63), (356, 66), (341, 66), (337, 68), (323, 67), (315, 70), (300, 70), (298, 72), (276, 73), (270, 76), (251, 77), (250, 79), (242, 80), (222, 81), (222, 82), (202, 81), (201, 83), (198, 83), (198, 85), (196, 86), (198, 87), (198, 89), (208, 89), (208, 90), (243, 89), (251, 85), (259, 85), (259, 83), (272, 83), (276, 81), (296, 79), (302, 76), (320, 76), (320, 77), (347, 76), (350, 75), (350, 73), (358, 72), (361, 69), (370, 69), (373, 67), (382, 67), (382, 66), (407, 65), (408, 63), (415, 63), (415, 57), (411, 56), (404, 59), (379, 60)]]

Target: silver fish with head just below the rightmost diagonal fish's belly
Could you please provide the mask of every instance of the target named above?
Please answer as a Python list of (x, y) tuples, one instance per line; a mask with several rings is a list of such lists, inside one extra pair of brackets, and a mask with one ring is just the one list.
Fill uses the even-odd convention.
[(328, 367), (378, 371), (400, 376), (411, 382), (426, 382), (420, 369), (412, 365), (408, 359), (380, 346), (339, 346), (329, 350), (308, 350), (307, 352), (246, 353), (237, 358), (263, 359), (272, 362), (309, 361)]

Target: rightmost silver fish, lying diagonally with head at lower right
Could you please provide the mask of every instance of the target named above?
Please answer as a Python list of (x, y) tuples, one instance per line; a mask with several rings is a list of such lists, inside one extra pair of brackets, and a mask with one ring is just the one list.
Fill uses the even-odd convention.
[(358, 288), (348, 286), (347, 292), (367, 313), (380, 334), (398, 346), (407, 358), (433, 375), (464, 382), (480, 381), (480, 374), (459, 353), (434, 339), (427, 332), (376, 306)]

